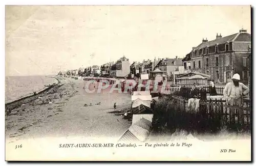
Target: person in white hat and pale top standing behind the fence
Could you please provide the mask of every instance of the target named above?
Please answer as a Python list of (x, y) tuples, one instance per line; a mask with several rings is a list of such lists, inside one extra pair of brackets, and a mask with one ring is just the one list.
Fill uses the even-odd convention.
[[(240, 81), (240, 75), (234, 74), (232, 77), (232, 81), (227, 83), (224, 90), (223, 95), (226, 98), (227, 103), (230, 105), (238, 105), (243, 106), (243, 97), (249, 93), (249, 88), (246, 87)], [(242, 120), (243, 118), (243, 110), (239, 109), (239, 119)], [(230, 110), (231, 119), (234, 119), (234, 109), (231, 108)]]

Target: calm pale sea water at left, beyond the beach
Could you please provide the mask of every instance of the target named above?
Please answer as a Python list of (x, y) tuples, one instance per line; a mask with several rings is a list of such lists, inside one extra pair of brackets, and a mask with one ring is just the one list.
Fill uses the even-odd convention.
[(55, 78), (48, 76), (7, 76), (5, 77), (5, 103), (41, 91), (45, 85), (57, 83)]

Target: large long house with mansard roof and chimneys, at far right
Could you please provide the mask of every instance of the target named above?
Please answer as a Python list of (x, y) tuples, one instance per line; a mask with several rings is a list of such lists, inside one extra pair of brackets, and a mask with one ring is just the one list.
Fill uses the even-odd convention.
[(222, 37), (216, 36), (215, 40), (202, 41), (197, 47), (183, 59), (183, 66), (188, 69), (191, 63), (191, 70), (210, 75), (210, 79), (218, 84), (231, 81), (232, 75), (238, 73), (241, 81), (248, 83), (248, 49), (251, 45), (251, 35), (246, 30), (239, 33)]

